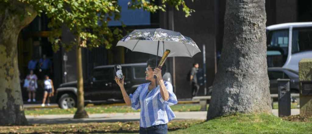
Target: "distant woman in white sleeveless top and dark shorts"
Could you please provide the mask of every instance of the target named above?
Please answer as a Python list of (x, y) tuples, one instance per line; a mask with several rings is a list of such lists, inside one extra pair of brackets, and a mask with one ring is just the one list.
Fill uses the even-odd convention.
[(53, 81), (49, 79), (48, 75), (45, 75), (44, 84), (44, 94), (41, 106), (44, 107), (46, 103), (46, 98), (48, 98), (47, 105), (50, 106), (50, 97), (54, 94)]

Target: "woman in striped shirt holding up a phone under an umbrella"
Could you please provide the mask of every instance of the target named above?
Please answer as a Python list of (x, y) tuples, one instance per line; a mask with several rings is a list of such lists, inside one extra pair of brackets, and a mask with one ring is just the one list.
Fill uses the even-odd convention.
[[(166, 72), (166, 66), (163, 65), (162, 69), (155, 68), (155, 66), (156, 59), (147, 61), (145, 79), (151, 82), (140, 84), (129, 96), (124, 89), (124, 79), (115, 77), (125, 103), (134, 110), (141, 109), (140, 134), (166, 134), (168, 132), (167, 123), (175, 117), (169, 106), (178, 103), (177, 97), (173, 93), (172, 84), (164, 81), (162, 77)], [(156, 79), (154, 79), (154, 75), (157, 76)]]

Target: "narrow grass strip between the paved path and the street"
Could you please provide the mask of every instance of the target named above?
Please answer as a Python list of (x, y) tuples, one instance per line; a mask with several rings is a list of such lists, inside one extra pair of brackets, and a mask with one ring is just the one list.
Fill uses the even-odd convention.
[[(199, 111), (199, 104), (177, 104), (170, 106), (173, 111), (185, 112), (185, 111)], [(43, 114), (74, 114), (76, 108), (61, 109), (61, 108), (26, 108), (26, 115), (43, 115)], [(85, 107), (85, 110), (89, 114), (93, 113), (114, 113), (114, 112), (140, 112), (140, 110), (133, 110), (128, 106), (111, 106), (111, 105), (98, 105)]]

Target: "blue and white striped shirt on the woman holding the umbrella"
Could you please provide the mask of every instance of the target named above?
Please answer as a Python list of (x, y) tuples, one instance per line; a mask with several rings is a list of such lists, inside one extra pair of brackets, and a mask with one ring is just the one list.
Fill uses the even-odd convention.
[(149, 84), (139, 85), (135, 92), (129, 95), (132, 109), (138, 110), (141, 108), (140, 127), (151, 127), (168, 123), (175, 117), (169, 106), (178, 103), (171, 83), (165, 81), (165, 87), (169, 93), (168, 101), (163, 100), (161, 97), (159, 85), (148, 92)]

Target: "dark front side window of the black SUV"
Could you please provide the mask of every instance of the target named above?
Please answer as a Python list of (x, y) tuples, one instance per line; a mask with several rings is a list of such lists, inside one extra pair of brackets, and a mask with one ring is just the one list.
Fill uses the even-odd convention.
[(114, 72), (112, 68), (95, 69), (93, 71), (94, 80), (109, 80), (114, 79)]

